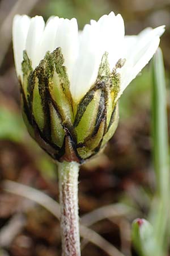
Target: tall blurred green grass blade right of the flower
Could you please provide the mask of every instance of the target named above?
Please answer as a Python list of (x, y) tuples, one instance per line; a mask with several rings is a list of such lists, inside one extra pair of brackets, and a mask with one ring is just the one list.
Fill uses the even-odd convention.
[(154, 226), (155, 237), (162, 247), (162, 255), (167, 255), (170, 168), (165, 71), (160, 48), (152, 61), (152, 81), (152, 153), (157, 193), (151, 209), (150, 221)]

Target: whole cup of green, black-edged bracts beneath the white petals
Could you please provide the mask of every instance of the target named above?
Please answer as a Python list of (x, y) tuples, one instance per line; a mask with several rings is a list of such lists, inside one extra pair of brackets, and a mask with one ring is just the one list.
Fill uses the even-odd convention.
[[(33, 70), (24, 51), (20, 78), (23, 117), (31, 136), (53, 159), (84, 160), (95, 155), (118, 125), (119, 61), (110, 72), (108, 53), (101, 60), (95, 84), (75, 102), (61, 48), (47, 52)], [(80, 85), (81, 86), (81, 85)]]

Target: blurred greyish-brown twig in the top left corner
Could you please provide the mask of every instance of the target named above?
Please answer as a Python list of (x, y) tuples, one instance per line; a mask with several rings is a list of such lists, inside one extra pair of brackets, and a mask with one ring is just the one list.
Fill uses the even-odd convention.
[[(2, 3), (6, 1), (3, 0)], [(5, 20), (0, 27), (0, 67), (2, 65), (3, 59), (6, 55), (8, 47), (11, 43), (12, 37), (12, 20), (15, 14), (28, 14), (32, 8), (36, 5), (39, 0), (18, 0), (15, 5), (12, 7), (10, 13), (6, 16)], [(1, 7), (0, 7), (1, 8)]]

